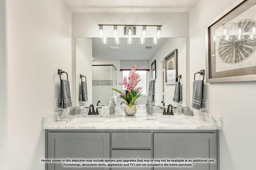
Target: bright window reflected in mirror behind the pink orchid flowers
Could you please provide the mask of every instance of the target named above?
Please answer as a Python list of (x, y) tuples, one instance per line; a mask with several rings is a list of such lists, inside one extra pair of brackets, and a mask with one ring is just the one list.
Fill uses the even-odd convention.
[[(128, 78), (129, 72), (130, 71), (122, 71), (122, 76)], [(142, 94), (147, 95), (147, 71), (137, 70), (136, 72), (140, 75), (140, 82), (137, 86), (142, 87)], [(124, 90), (124, 86), (122, 86), (122, 89)]]

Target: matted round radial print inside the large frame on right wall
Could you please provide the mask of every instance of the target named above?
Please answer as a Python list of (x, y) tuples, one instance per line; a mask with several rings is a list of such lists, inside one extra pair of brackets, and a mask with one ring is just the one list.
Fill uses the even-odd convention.
[(216, 72), (256, 66), (256, 39), (246, 34), (256, 27), (250, 18), (256, 20), (256, 5), (215, 30), (215, 35), (223, 35), (215, 41)]

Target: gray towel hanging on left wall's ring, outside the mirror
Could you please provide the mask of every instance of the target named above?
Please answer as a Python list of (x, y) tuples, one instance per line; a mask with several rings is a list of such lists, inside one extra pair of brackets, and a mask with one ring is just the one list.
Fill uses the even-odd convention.
[(66, 109), (68, 107), (72, 107), (69, 81), (60, 80), (60, 98), (58, 108)]

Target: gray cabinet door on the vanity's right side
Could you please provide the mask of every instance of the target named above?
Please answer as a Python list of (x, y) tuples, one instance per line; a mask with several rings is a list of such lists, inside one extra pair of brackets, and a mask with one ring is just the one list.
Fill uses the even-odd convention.
[[(172, 166), (154, 167), (154, 169), (217, 170), (216, 133), (154, 133), (154, 159), (165, 158), (214, 159), (216, 162), (192, 162), (194, 164), (192, 167), (181, 168)], [(189, 164), (190, 162), (184, 163)]]

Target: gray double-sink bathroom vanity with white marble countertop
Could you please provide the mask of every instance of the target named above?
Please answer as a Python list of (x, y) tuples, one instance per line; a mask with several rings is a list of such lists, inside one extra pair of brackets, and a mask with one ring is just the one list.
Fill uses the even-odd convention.
[[(88, 110), (83, 109), (80, 115), (55, 113), (44, 117), (46, 159), (208, 158), (215, 162), (194, 164), (186, 169), (218, 170), (218, 130), (222, 129), (221, 118), (207, 113), (197, 116), (178, 114), (182, 107), (174, 110), (174, 116), (162, 115), (162, 109), (157, 107), (153, 115), (147, 115), (145, 107), (140, 107), (132, 117), (122, 113), (122, 107), (116, 107), (115, 115), (109, 115), (108, 109), (103, 107), (99, 115), (88, 115)], [(47, 170), (62, 168), (62, 164), (58, 163), (46, 165)], [(170, 169), (146, 166), (139, 169), (165, 168)], [(112, 170), (120, 169), (122, 167), (112, 167)]]

